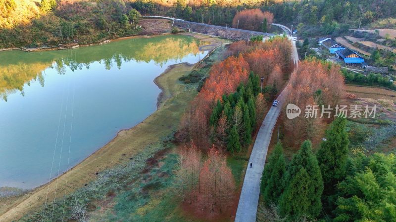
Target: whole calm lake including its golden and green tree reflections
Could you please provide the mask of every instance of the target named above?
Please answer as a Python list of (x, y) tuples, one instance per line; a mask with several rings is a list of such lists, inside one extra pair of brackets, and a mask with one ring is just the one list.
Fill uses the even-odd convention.
[(43, 185), (156, 110), (153, 82), (196, 63), (196, 38), (131, 38), (43, 52), (0, 52), (0, 187)]

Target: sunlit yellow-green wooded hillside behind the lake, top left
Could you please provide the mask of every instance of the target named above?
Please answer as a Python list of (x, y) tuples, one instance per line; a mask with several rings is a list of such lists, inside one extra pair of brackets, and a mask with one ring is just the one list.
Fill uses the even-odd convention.
[(87, 44), (137, 34), (139, 13), (122, 0), (1, 0), (0, 48)]

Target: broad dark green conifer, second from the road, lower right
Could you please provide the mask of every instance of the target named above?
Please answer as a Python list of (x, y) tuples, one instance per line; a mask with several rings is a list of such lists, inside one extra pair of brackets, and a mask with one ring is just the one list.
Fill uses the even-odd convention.
[[(297, 173), (304, 168), (308, 174), (306, 185), (309, 187), (297, 187), (292, 182), (295, 181)], [(323, 192), (323, 180), (320, 172), (318, 160), (312, 152), (312, 144), (306, 140), (302, 143), (290, 162), (284, 177), (285, 192), (280, 197), (279, 203), (281, 212), (284, 215), (290, 215), (292, 218), (305, 215), (307, 217), (316, 217), (322, 209), (321, 196)], [(298, 190), (303, 188), (304, 190)], [(300, 194), (300, 196), (295, 196)], [(296, 208), (291, 199), (297, 201), (299, 205)], [(304, 201), (302, 201), (304, 200)]]

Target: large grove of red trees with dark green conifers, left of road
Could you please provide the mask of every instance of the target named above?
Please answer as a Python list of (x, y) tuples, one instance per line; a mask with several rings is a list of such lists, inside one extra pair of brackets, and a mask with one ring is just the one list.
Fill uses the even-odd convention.
[[(230, 57), (212, 67), (191, 109), (183, 116), (176, 134), (179, 141), (194, 140), (198, 147), (208, 147), (213, 143), (226, 147), (232, 139), (236, 149), (229, 150), (240, 151), (236, 133), (240, 137), (239, 143), (248, 145), (248, 134), (254, 132), (255, 124), (258, 123), (256, 120), (260, 119), (260, 116), (256, 118), (255, 112), (263, 114), (262, 111), (254, 110), (254, 107), (265, 108), (262, 95), (259, 106), (256, 104), (260, 78), (263, 79), (263, 87), (270, 83), (276, 94), (283, 85), (284, 76), (294, 67), (291, 62), (291, 42), (284, 37), (271, 38), (265, 42), (235, 42), (230, 45), (228, 55)], [(253, 76), (249, 77), (251, 72)], [(224, 98), (228, 98), (229, 108)], [(216, 106), (215, 116), (209, 121)], [(229, 109), (231, 111), (226, 111)], [(243, 119), (244, 124), (249, 120), (251, 126), (239, 127), (238, 118)], [(237, 128), (235, 130), (232, 129), (234, 125)], [(245, 129), (251, 130), (241, 133)]]

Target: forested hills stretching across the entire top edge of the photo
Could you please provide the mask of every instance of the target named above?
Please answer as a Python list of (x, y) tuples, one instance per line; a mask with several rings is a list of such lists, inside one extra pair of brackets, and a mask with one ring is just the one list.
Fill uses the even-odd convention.
[(0, 47), (91, 43), (136, 34), (136, 13), (231, 25), (237, 11), (260, 8), (301, 36), (348, 28), (395, 28), (395, 0), (0, 0)]

